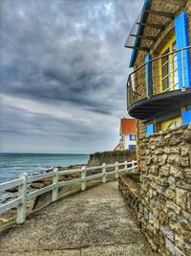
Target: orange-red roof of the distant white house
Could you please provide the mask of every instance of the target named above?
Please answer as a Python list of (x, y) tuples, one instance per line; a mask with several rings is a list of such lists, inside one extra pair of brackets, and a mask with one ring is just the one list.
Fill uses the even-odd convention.
[(120, 123), (121, 134), (136, 134), (137, 133), (137, 120), (136, 119), (121, 119)]

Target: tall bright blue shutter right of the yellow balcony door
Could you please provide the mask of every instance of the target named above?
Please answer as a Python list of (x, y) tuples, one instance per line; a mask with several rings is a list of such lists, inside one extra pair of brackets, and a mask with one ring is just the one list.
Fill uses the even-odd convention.
[[(187, 31), (188, 21), (187, 13), (181, 12), (175, 19), (175, 34), (176, 34), (176, 48), (189, 46), (189, 38)], [(185, 87), (191, 86), (191, 68), (190, 68), (189, 49), (183, 51), (183, 67), (181, 60), (181, 52), (178, 53), (178, 73), (179, 73), (179, 87), (183, 88), (182, 68), (184, 70), (184, 84)]]

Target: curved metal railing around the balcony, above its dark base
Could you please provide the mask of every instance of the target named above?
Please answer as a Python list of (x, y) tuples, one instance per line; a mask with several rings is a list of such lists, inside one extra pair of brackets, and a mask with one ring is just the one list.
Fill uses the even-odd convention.
[(127, 81), (128, 108), (142, 99), (191, 85), (191, 46), (145, 62)]

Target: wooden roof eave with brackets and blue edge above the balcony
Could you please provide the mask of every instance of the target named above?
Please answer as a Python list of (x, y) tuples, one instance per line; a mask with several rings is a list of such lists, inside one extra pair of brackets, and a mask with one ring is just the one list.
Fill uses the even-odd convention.
[[(130, 33), (129, 42), (126, 41), (125, 47), (134, 49), (130, 67), (133, 67), (138, 51), (150, 52), (155, 42), (159, 39), (163, 31), (172, 23), (177, 12), (180, 12), (186, 1), (185, 0), (159, 0), (161, 4), (156, 8), (156, 0), (151, 1), (151, 6), (142, 11), (144, 22), (141, 20), (136, 21), (138, 26), (138, 34)], [(167, 7), (166, 7), (167, 6)], [(165, 10), (165, 12), (164, 12)], [(155, 20), (153, 22), (153, 20)], [(135, 37), (135, 43), (132, 43), (130, 37)]]

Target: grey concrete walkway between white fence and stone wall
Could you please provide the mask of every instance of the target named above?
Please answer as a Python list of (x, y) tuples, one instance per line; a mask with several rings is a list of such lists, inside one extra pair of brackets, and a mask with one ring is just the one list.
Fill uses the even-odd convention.
[(152, 256), (117, 182), (60, 199), (0, 235), (1, 256)]

